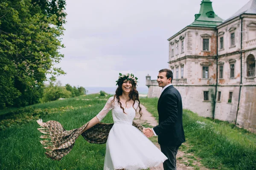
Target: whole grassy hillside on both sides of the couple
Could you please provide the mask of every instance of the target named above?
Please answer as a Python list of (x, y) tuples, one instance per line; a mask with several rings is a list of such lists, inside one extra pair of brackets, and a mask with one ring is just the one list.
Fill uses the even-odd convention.
[[(96, 116), (109, 96), (90, 94), (26, 108), (0, 111), (1, 170), (102, 170), (105, 144), (90, 144), (81, 136), (67, 156), (53, 161), (44, 155), (36, 119), (56, 120), (66, 130), (80, 127)], [(141, 99), (158, 118), (157, 99)], [(256, 169), (256, 135), (232, 128), (226, 122), (199, 117), (183, 111), (186, 144), (181, 149), (201, 158), (204, 166), (220, 170)], [(103, 122), (112, 123), (111, 112)]]

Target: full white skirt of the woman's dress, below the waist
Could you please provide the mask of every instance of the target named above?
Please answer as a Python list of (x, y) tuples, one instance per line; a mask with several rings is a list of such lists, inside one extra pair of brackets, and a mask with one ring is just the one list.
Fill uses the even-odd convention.
[(136, 127), (114, 123), (106, 144), (104, 170), (143, 170), (167, 157)]

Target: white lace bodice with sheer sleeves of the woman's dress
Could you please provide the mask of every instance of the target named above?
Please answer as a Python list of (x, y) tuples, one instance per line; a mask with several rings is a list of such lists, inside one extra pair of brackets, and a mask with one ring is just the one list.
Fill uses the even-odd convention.
[(112, 109), (112, 116), (113, 116), (113, 120), (114, 123), (125, 123), (125, 124), (130, 124), (132, 125), (132, 121), (136, 115), (136, 111), (138, 108), (138, 104), (139, 102), (136, 100), (134, 103), (134, 108), (131, 106), (130, 108), (125, 108), (123, 106), (123, 108), (125, 108), (125, 113), (123, 113), (122, 108), (120, 108), (119, 103), (117, 102), (117, 99), (115, 98), (115, 100), (113, 101), (114, 97), (110, 97), (108, 99), (108, 102), (106, 103), (106, 105), (104, 106), (104, 108), (102, 109), (102, 111), (100, 111), (96, 116), (99, 119), (99, 121), (101, 122), (102, 119), (108, 114), (109, 111), (111, 111)]

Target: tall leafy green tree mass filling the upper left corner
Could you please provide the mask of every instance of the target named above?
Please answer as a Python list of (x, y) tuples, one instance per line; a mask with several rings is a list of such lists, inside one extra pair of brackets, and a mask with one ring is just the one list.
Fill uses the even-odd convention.
[(65, 5), (65, 0), (0, 1), (0, 108), (38, 102), (44, 82), (65, 74), (54, 67), (64, 57), (59, 49)]

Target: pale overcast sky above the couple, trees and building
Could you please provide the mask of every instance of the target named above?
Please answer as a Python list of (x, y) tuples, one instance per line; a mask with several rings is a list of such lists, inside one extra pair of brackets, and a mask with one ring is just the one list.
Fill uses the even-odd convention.
[[(249, 0), (212, 0), (226, 20)], [(118, 74), (133, 73), (138, 87), (168, 68), (169, 37), (188, 26), (201, 0), (67, 0), (67, 24), (58, 64), (62, 85), (115, 87)]]

